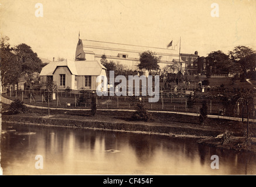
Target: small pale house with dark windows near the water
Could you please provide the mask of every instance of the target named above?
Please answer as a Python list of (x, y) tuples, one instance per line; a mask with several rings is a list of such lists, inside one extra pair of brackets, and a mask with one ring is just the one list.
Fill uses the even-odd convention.
[(98, 75), (107, 76), (107, 69), (98, 61), (53, 61), (42, 68), (40, 81), (53, 81), (58, 89), (96, 90)]

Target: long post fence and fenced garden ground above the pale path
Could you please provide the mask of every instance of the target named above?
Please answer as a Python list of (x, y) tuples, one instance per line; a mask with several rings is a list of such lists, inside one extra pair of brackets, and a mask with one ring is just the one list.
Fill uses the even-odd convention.
[[(53, 93), (49, 92), (49, 106), (63, 109), (90, 109), (91, 94), (90, 91), (83, 93), (80, 91), (59, 91), (55, 92), (53, 96)], [(48, 106), (48, 92), (45, 90), (9, 91), (2, 95), (12, 100), (20, 99), (30, 105)], [(241, 119), (247, 117), (245, 108), (239, 106), (238, 108), (225, 109), (222, 103), (223, 98), (211, 93), (194, 92), (194, 95), (190, 95), (183, 89), (179, 89), (177, 92), (174, 89), (163, 89), (158, 102), (149, 103), (149, 98), (150, 96), (96, 96), (96, 102), (98, 109), (135, 109), (136, 102), (141, 101), (144, 102), (147, 110), (167, 110), (199, 115), (202, 101), (206, 100), (208, 103), (207, 112), (211, 115), (241, 117)], [(255, 110), (251, 111), (250, 116), (255, 119)]]

